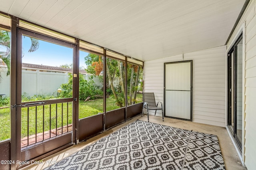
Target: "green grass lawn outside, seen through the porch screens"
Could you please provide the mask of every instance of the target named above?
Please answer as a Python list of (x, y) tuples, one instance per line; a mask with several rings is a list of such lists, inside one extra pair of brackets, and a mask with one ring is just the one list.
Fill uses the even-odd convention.
[[(137, 101), (142, 102), (142, 94), (137, 94)], [(106, 111), (118, 109), (114, 98), (107, 98)], [(37, 110), (36, 110), (37, 109)], [(57, 112), (56, 112), (57, 109)], [(44, 110), (44, 113), (43, 113)], [(36, 114), (37, 112), (37, 114)], [(103, 99), (84, 102), (79, 101), (79, 119), (103, 112)], [(63, 113), (63, 114), (62, 114)], [(29, 120), (29, 126), (28, 126)], [(57, 120), (57, 122), (56, 122)], [(44, 125), (43, 123), (44, 122)], [(57, 123), (57, 126), (56, 126)], [(22, 108), (22, 137), (42, 133), (56, 127), (62, 127), (72, 123), (72, 102), (68, 105), (52, 104), (43, 106)], [(10, 139), (10, 108), (0, 109), (0, 141)]]

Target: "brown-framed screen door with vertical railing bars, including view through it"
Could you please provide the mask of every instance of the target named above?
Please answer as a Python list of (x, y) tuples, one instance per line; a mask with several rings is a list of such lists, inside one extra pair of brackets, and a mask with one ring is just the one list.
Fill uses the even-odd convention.
[[(12, 105), (18, 129), (16, 159), (28, 161), (75, 142), (76, 70), (62, 71), (60, 62), (74, 65), (76, 45), (23, 29), (17, 32), (16, 104)], [(31, 44), (40, 45), (28, 53)], [(68, 81), (70, 95), (62, 96), (58, 88)]]

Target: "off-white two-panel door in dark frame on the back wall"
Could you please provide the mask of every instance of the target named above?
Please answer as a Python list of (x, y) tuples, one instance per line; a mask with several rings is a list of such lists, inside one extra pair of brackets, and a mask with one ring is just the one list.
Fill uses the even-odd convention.
[(165, 116), (192, 121), (192, 61), (164, 63)]

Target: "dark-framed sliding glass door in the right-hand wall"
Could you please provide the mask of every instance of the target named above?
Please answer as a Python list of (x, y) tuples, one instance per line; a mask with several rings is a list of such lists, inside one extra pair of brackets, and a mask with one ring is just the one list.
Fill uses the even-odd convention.
[(242, 35), (228, 52), (228, 127), (242, 147)]

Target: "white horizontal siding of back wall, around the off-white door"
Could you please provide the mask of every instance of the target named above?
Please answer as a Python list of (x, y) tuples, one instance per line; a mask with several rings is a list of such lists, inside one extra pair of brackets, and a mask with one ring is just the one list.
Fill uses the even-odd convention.
[(193, 121), (225, 127), (225, 59), (226, 46), (221, 46), (146, 61), (144, 90), (164, 103), (164, 63), (193, 60)]

